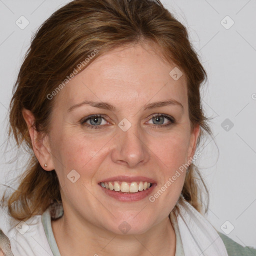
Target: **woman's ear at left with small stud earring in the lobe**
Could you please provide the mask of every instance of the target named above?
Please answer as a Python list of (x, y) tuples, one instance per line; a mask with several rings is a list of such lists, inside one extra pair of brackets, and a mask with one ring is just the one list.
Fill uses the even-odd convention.
[[(28, 127), (35, 157), (43, 169), (48, 171), (53, 170), (54, 165), (50, 152), (48, 135), (46, 134), (42, 136), (42, 134), (35, 129), (34, 115), (30, 110), (23, 108), (22, 115)], [(45, 163), (47, 164), (47, 167), (44, 166)]]

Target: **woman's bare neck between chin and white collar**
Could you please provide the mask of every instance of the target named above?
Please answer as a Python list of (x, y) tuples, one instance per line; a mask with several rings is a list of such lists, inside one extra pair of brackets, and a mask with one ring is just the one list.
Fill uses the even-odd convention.
[(175, 255), (175, 232), (168, 217), (145, 233), (134, 235), (115, 234), (74, 219), (63, 214), (52, 221), (52, 231), (62, 256)]

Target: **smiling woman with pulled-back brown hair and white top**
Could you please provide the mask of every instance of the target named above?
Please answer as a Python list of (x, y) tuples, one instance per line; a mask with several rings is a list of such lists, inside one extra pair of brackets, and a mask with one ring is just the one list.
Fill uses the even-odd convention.
[(2, 198), (2, 253), (246, 253), (201, 215), (192, 160), (211, 135), (205, 78), (159, 1), (74, 0), (53, 13), (10, 102), (9, 135), (31, 158)]

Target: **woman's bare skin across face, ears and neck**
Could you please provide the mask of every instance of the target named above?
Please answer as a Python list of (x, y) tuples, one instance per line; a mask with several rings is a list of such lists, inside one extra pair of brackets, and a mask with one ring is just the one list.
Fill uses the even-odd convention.
[[(119, 201), (98, 185), (117, 175), (145, 176), (156, 181), (153, 195), (193, 156), (199, 126), (190, 131), (186, 79), (184, 74), (178, 80), (169, 75), (174, 66), (147, 44), (101, 55), (58, 93), (50, 133), (43, 138), (31, 127), (31, 112), (23, 109), (34, 153), (45, 170), (55, 169), (61, 185), (64, 215), (52, 221), (61, 255), (175, 254), (168, 215), (180, 195), (185, 171), (154, 202), (148, 196)], [(107, 101), (116, 111), (89, 105), (67, 111), (85, 99)], [(167, 99), (183, 107), (144, 110), (145, 104)], [(164, 118), (158, 124), (152, 116), (157, 113), (176, 121), (164, 127), (170, 121)], [(80, 123), (90, 114), (104, 114), (98, 124), (102, 128)], [(127, 131), (118, 127), (123, 118), (131, 123)], [(74, 183), (67, 178), (72, 169), (80, 175)], [(126, 234), (118, 228), (123, 221), (130, 226)]]

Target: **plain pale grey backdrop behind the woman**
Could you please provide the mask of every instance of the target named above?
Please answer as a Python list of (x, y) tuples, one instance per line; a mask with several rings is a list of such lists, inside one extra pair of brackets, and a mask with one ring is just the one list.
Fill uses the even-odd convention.
[[(6, 147), (6, 114), (22, 58), (38, 26), (67, 2), (0, 0), (0, 183), (22, 172), (26, 159), (14, 143)], [(206, 218), (241, 245), (256, 247), (256, 1), (162, 3), (187, 27), (208, 73), (201, 93), (214, 139), (198, 148), (196, 161), (210, 192)], [(20, 19), (29, 22), (25, 28)]]

